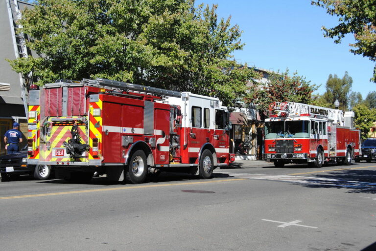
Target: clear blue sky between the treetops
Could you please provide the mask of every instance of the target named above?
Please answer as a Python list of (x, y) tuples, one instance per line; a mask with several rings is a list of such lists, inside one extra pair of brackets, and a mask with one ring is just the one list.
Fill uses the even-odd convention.
[(352, 35), (341, 44), (324, 38), (321, 27), (334, 27), (338, 18), (311, 5), (310, 0), (196, 0), (196, 4), (201, 2), (218, 4), (218, 17), (231, 15), (231, 23), (240, 26), (245, 46), (234, 53), (239, 63), (297, 71), (312, 84), (321, 84), (320, 94), (326, 90), (329, 74), (342, 78), (345, 71), (352, 77), (352, 91), (360, 92), (363, 99), (376, 90), (376, 84), (369, 81), (375, 63), (349, 51)]

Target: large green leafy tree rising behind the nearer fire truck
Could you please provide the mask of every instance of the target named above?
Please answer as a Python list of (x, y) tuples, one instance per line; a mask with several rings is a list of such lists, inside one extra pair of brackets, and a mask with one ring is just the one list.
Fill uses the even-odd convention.
[(247, 96), (256, 78), (232, 59), (241, 31), (194, 0), (39, 0), (21, 20), (39, 58), (11, 62), (37, 84), (108, 78), (216, 96)]

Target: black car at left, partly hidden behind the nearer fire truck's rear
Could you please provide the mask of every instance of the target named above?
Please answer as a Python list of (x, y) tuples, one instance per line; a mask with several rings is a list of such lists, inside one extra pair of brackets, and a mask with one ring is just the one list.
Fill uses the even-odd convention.
[(0, 156), (1, 181), (12, 180), (21, 174), (34, 175), (35, 179), (46, 180), (51, 174), (51, 167), (47, 165), (27, 165), (27, 145), (21, 151)]

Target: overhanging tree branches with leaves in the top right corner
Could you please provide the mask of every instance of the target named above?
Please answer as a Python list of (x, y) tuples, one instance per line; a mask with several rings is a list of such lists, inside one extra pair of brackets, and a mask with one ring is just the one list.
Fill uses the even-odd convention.
[[(354, 35), (350, 51), (376, 62), (376, 2), (375, 0), (313, 0), (312, 5), (327, 9), (331, 16), (339, 17), (333, 28), (322, 27), (324, 36), (340, 43), (346, 34)], [(376, 66), (371, 79), (376, 83)]]

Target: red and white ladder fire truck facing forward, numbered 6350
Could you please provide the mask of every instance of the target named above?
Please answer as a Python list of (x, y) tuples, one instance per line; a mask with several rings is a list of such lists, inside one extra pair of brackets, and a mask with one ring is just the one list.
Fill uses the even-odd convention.
[(325, 161), (350, 165), (359, 161), (360, 132), (353, 128), (353, 112), (315, 105), (274, 102), (265, 120), (264, 157), (276, 167)]

